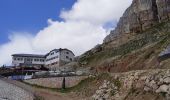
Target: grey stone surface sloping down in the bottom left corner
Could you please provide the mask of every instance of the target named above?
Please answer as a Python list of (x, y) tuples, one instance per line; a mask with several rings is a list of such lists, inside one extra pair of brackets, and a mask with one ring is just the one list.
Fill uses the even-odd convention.
[(0, 80), (0, 100), (33, 100), (34, 96), (16, 85)]

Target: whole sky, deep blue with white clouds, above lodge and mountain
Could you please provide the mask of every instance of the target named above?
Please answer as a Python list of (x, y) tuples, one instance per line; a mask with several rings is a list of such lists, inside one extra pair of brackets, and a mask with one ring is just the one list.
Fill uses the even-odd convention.
[(0, 0), (0, 66), (16, 53), (101, 44), (132, 0)]

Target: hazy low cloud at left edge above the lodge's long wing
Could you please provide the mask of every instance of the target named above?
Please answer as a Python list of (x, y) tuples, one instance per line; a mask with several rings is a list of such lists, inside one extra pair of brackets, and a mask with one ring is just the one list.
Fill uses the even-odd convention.
[[(22, 33), (23, 34), (23, 33)], [(11, 54), (13, 53), (29, 53), (34, 52), (32, 50), (32, 39), (33, 37), (24, 33), (12, 33), (9, 36), (10, 42), (0, 46), (0, 65), (11, 63)]]

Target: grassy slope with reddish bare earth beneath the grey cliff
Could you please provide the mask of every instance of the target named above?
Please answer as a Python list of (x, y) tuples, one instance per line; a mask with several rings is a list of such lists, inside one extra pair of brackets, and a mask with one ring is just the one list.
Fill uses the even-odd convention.
[[(145, 69), (148, 67), (146, 63), (147, 65), (156, 66), (152, 63), (157, 63), (156, 59), (159, 53), (169, 44), (169, 28), (170, 22), (158, 24), (145, 32), (139, 33), (135, 39), (119, 47), (106, 49), (95, 54), (89, 53), (90, 55), (80, 58), (79, 62), (87, 62), (85, 66), (111, 72), (113, 70), (119, 72)], [(136, 63), (139, 62), (141, 65), (138, 66)], [(138, 67), (133, 68), (134, 66)], [(121, 70), (122, 67), (125, 70)]]

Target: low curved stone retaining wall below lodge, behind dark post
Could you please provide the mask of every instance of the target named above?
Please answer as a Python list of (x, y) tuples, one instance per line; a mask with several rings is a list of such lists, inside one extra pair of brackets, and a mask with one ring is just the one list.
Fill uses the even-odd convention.
[[(65, 84), (66, 87), (73, 87), (77, 85), (79, 82), (87, 78), (87, 76), (73, 76), (73, 77), (66, 77)], [(61, 88), (63, 77), (54, 77), (54, 78), (38, 78), (38, 79), (30, 79), (25, 80), (26, 83), (39, 85), (43, 87), (50, 87), (50, 88)]]

